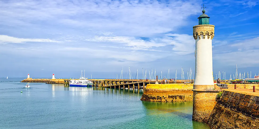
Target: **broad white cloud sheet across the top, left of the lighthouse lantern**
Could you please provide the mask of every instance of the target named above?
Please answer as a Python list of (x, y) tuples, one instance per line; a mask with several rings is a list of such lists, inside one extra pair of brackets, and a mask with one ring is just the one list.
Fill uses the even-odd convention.
[[(174, 31), (199, 11), (197, 1), (0, 1), (1, 24), (71, 25), (116, 35), (150, 36)], [(25, 24), (26, 23), (26, 24)]]

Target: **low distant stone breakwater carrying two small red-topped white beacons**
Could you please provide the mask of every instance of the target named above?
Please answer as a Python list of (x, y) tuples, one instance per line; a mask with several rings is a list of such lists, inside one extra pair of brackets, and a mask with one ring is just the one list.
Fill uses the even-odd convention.
[(64, 79), (32, 79), (32, 78), (26, 78), (26, 79), (23, 79), (21, 82), (27, 82), (27, 83), (47, 83), (47, 84), (64, 84)]

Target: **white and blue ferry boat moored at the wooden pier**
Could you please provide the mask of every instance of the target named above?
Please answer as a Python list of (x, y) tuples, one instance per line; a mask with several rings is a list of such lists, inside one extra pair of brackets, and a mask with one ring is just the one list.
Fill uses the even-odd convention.
[(81, 71), (81, 77), (79, 79), (71, 79), (69, 86), (72, 87), (91, 87), (93, 85), (91, 80), (83, 77), (83, 71)]

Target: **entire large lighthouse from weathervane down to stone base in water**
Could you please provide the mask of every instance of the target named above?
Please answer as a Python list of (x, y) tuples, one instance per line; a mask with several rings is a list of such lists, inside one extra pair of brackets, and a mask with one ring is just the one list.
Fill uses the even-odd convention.
[(193, 26), (195, 40), (195, 79), (193, 84), (192, 119), (207, 122), (216, 101), (216, 95), (221, 90), (215, 90), (212, 69), (212, 39), (214, 25), (210, 25), (203, 5), (202, 15), (198, 17), (198, 25)]

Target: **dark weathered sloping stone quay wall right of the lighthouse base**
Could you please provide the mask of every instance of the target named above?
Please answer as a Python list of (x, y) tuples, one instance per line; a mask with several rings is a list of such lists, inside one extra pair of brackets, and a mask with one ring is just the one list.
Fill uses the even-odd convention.
[(208, 125), (212, 129), (259, 128), (259, 94), (250, 95), (253, 93), (250, 92), (224, 90), (207, 121)]

